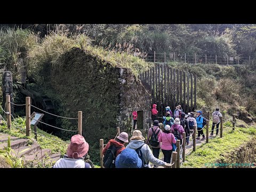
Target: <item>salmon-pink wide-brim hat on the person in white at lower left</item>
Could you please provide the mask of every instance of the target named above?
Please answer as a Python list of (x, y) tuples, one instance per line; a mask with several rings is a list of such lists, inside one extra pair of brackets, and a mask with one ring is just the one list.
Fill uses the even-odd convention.
[(70, 143), (67, 149), (67, 155), (69, 158), (81, 158), (89, 150), (89, 144), (85, 141), (82, 135), (76, 134), (71, 137)]

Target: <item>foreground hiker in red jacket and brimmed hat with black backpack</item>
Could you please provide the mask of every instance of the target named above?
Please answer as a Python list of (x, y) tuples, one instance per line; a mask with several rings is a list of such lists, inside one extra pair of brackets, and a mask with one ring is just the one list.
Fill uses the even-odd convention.
[(128, 141), (128, 134), (122, 132), (115, 139), (110, 139), (103, 148), (103, 166), (105, 168), (115, 168), (115, 159), (125, 149), (124, 144)]

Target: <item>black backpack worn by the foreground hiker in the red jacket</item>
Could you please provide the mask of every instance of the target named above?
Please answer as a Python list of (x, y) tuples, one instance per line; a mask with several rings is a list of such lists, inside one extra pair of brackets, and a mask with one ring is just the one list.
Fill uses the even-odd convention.
[(111, 144), (106, 151), (106, 154), (103, 157), (103, 166), (105, 168), (115, 168), (115, 161), (116, 161), (116, 151), (121, 147), (116, 147), (114, 144)]

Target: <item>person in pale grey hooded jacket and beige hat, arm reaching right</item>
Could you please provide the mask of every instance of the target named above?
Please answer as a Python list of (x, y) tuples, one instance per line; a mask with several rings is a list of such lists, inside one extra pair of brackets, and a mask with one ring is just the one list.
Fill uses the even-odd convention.
[(131, 148), (137, 152), (142, 161), (141, 168), (151, 168), (149, 162), (153, 163), (154, 165), (166, 167), (165, 162), (154, 157), (149, 146), (146, 143), (144, 143), (144, 140), (145, 138), (142, 136), (141, 131), (134, 130), (130, 142), (126, 146), (126, 149)]

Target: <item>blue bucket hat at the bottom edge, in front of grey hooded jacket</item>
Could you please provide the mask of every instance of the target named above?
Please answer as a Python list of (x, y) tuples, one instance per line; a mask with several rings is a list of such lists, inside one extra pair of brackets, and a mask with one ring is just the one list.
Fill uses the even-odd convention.
[(126, 148), (116, 157), (116, 168), (140, 168), (142, 161), (134, 149)]

